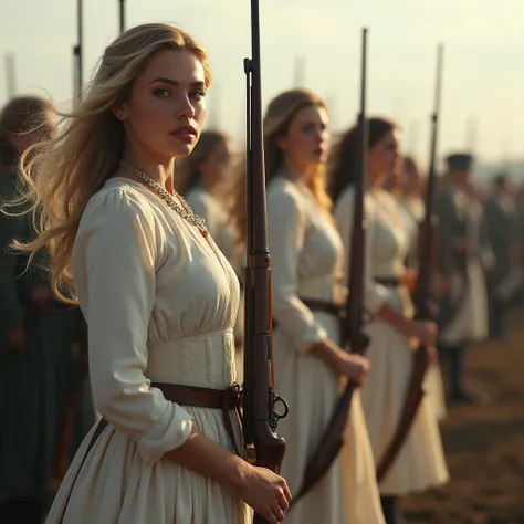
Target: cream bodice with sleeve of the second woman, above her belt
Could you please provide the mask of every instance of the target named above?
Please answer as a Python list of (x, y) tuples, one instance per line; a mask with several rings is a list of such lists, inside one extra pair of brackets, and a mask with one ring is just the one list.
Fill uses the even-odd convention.
[(325, 333), (301, 298), (343, 302), (343, 244), (310, 189), (284, 176), (268, 187), (268, 222), (273, 316), (305, 348)]

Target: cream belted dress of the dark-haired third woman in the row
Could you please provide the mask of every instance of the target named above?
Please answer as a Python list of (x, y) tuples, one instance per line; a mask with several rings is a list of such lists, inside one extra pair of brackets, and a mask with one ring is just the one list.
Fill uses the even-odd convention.
[[(354, 210), (353, 187), (340, 196), (335, 214), (344, 241), (349, 240)], [(399, 277), (409, 250), (409, 233), (398, 212), (395, 197), (385, 190), (366, 196), (366, 308), (373, 315), (389, 304), (412, 315), (409, 292), (385, 287), (377, 277)], [(412, 350), (391, 324), (371, 319), (366, 328), (370, 343), (366, 356), (371, 373), (363, 387), (361, 399), (375, 460), (379, 461), (397, 428), (412, 365)], [(400, 453), (380, 483), (384, 495), (401, 495), (444, 483), (449, 478), (440, 439), (437, 413), (425, 397)]]

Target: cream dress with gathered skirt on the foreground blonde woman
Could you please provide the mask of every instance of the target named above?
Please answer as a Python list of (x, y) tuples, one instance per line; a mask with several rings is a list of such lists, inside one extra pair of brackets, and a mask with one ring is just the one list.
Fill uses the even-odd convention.
[(87, 434), (46, 522), (62, 522), (70, 495), (66, 524), (249, 522), (230, 489), (164, 457), (193, 425), (232, 450), (221, 411), (182, 408), (150, 387), (234, 381), (239, 284), (226, 258), (140, 182), (113, 178), (84, 212), (72, 268), (93, 396), (109, 423), (72, 489)]

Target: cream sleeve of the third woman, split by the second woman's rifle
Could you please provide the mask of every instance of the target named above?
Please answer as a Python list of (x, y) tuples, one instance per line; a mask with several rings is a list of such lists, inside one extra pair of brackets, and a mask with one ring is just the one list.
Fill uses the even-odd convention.
[[(355, 192), (353, 188), (348, 188), (339, 198), (335, 208), (335, 220), (337, 223), (338, 232), (344, 242), (346, 252), (345, 258), (345, 274), (349, 274), (349, 242), (353, 233), (353, 213), (355, 209)], [(366, 242), (365, 242), (365, 256), (364, 256), (364, 277), (365, 277), (365, 306), (366, 310), (374, 314), (387, 302), (388, 291), (384, 285), (377, 284), (373, 279), (371, 268), (371, 247), (373, 247), (373, 208), (369, 206), (366, 199), (365, 206), (365, 218), (367, 219), (368, 227), (366, 229)], [(350, 292), (350, 291), (349, 291)]]

